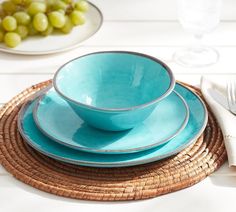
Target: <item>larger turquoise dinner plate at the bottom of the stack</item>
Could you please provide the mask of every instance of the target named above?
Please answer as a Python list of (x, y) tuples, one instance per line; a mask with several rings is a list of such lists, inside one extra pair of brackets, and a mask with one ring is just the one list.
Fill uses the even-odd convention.
[(83, 166), (123, 167), (157, 161), (174, 155), (200, 136), (207, 124), (207, 111), (201, 99), (189, 89), (177, 84), (175, 90), (186, 100), (190, 116), (188, 124), (169, 142), (147, 151), (132, 154), (96, 154), (68, 148), (45, 136), (35, 125), (33, 108), (35, 99), (22, 107), (18, 128), (25, 141), (39, 152), (54, 159)]

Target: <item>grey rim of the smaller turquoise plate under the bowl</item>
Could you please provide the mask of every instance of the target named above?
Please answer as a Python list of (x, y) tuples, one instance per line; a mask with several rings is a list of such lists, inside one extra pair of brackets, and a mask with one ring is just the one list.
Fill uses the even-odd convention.
[[(83, 147), (83, 146), (75, 146), (73, 144), (68, 144), (66, 141), (62, 141), (58, 138), (55, 138), (53, 135), (49, 134), (45, 129), (43, 129), (43, 127), (41, 126), (41, 123), (39, 121), (37, 112), (38, 109), (40, 107), (40, 102), (43, 100), (43, 98), (47, 95), (47, 93), (51, 90), (53, 86), (49, 85), (48, 89), (42, 93), (38, 98), (35, 98), (35, 106), (33, 108), (33, 118), (34, 118), (34, 122), (37, 126), (37, 128), (47, 137), (49, 137), (51, 140), (63, 145), (63, 146), (67, 146), (69, 148), (75, 149), (75, 150), (79, 150), (79, 151), (84, 151), (84, 152), (89, 152), (89, 153), (97, 153), (97, 154), (130, 154), (130, 153), (135, 153), (135, 152), (141, 152), (141, 151), (146, 151), (152, 148), (155, 148), (159, 145), (163, 145), (164, 143), (168, 142), (169, 140), (171, 140), (172, 138), (174, 138), (175, 136), (177, 136), (187, 125), (188, 120), (189, 120), (189, 107), (188, 104), (186, 103), (186, 101), (184, 100), (184, 98), (176, 91), (172, 91), (175, 93), (175, 95), (177, 95), (177, 97), (180, 99), (180, 101), (183, 103), (184, 108), (185, 108), (185, 117), (184, 117), (184, 121), (181, 123), (180, 127), (178, 128), (178, 130), (175, 131), (175, 133), (173, 133), (171, 136), (168, 136), (165, 139), (162, 139), (159, 142), (155, 142), (153, 144), (150, 145), (146, 145), (146, 146), (142, 146), (142, 147), (136, 147), (136, 148), (128, 148), (128, 149), (118, 149), (118, 150), (112, 150), (112, 149), (107, 149), (107, 150), (103, 150), (103, 149), (96, 149), (96, 148), (89, 148), (89, 147)], [(55, 90), (56, 92), (56, 90)]]

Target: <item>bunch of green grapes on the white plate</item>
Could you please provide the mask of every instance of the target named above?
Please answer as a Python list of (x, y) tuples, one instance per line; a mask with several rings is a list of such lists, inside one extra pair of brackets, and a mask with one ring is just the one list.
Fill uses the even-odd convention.
[(85, 23), (84, 0), (7, 0), (0, 4), (0, 42), (14, 48), (28, 36), (68, 34)]

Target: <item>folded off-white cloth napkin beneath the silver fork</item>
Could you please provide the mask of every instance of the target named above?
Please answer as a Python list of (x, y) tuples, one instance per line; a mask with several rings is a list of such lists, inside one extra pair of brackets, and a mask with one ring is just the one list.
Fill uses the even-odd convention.
[(236, 166), (236, 116), (228, 111), (226, 83), (229, 80), (202, 77), (201, 90), (222, 129), (229, 166)]

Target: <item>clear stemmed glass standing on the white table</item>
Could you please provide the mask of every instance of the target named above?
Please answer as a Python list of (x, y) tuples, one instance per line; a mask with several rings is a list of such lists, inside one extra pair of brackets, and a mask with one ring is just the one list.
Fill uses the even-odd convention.
[(174, 60), (183, 66), (202, 67), (216, 63), (219, 53), (202, 44), (204, 34), (220, 21), (222, 0), (177, 0), (178, 18), (184, 30), (193, 34), (195, 43), (175, 52)]

